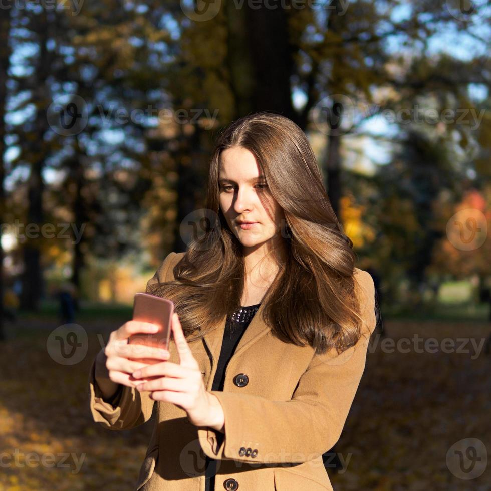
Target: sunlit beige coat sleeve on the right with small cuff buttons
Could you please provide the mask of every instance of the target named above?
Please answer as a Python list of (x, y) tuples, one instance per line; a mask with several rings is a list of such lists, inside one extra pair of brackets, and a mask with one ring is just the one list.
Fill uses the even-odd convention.
[[(372, 277), (357, 269), (355, 279), (364, 321), (358, 342), (339, 355), (336, 350), (314, 354), (291, 400), (211, 391), (223, 408), (225, 425), (220, 445), (217, 431), (198, 427), (199, 442), (208, 457), (248, 463), (306, 462), (327, 452), (339, 440), (376, 325)], [(251, 450), (244, 454), (248, 448)]]

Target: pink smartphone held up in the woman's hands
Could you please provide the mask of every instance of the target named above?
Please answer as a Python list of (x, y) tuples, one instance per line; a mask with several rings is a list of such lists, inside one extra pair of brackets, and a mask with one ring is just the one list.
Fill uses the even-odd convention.
[[(166, 298), (137, 293), (133, 299), (133, 320), (157, 324), (156, 333), (137, 333), (129, 337), (128, 343), (143, 344), (160, 349), (169, 349), (172, 314), (174, 303)], [(141, 363), (160, 363), (157, 358), (131, 358)]]

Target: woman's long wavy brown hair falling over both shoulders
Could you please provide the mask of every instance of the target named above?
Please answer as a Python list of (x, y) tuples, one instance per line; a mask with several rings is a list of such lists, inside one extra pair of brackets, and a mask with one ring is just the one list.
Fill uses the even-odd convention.
[(232, 122), (218, 135), (208, 178), (205, 233), (189, 243), (175, 279), (148, 293), (174, 302), (188, 342), (202, 337), (240, 306), (246, 276), (242, 246), (219, 206), (223, 150), (240, 146), (256, 158), (273, 198), (283, 208), (287, 259), (262, 302), (263, 321), (286, 343), (316, 353), (353, 346), (362, 332), (355, 294), (353, 242), (342, 231), (304, 132), (271, 112)]

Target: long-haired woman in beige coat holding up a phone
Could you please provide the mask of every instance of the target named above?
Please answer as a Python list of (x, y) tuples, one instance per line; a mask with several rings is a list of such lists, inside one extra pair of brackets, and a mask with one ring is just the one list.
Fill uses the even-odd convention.
[(169, 351), (127, 343), (151, 324), (112, 332), (90, 375), (92, 416), (121, 430), (155, 409), (136, 489), (332, 489), (322, 454), (365, 367), (375, 292), (301, 129), (273, 113), (229, 125), (207, 209), (216, 220), (147, 284), (175, 305)]

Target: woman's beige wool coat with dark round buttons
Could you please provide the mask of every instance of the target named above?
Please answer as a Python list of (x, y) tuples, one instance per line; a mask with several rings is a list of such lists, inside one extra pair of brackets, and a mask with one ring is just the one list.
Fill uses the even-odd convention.
[[(148, 282), (174, 278), (173, 267), (184, 253), (170, 253)], [(337, 355), (314, 355), (273, 337), (261, 321), (262, 304), (242, 335), (225, 372), (222, 391), (211, 391), (223, 406), (225, 438), (217, 448), (216, 431), (196, 427), (186, 412), (157, 401), (155, 423), (135, 489), (145, 491), (204, 491), (205, 456), (217, 460), (215, 490), (321, 491), (332, 490), (322, 454), (338, 441), (361, 376), (369, 335), (375, 328), (374, 284), (356, 269), (362, 287), (362, 316), (366, 323), (358, 343)], [(225, 328), (190, 343), (211, 390)], [(179, 362), (175, 344), (170, 361)], [(246, 374), (244, 386), (234, 383)], [(95, 379), (89, 377), (90, 410), (94, 421), (112, 430), (134, 428), (152, 415), (149, 392), (124, 386), (114, 406), (104, 402)], [(243, 384), (239, 384), (243, 385)], [(124, 462), (121, 462), (124, 465)]]

